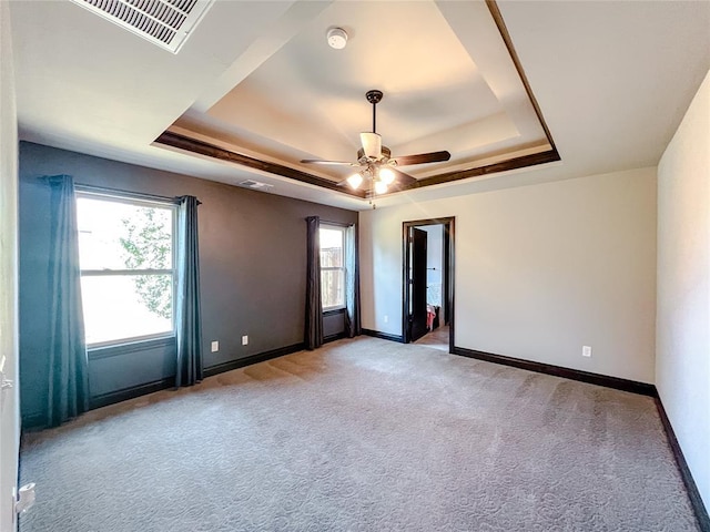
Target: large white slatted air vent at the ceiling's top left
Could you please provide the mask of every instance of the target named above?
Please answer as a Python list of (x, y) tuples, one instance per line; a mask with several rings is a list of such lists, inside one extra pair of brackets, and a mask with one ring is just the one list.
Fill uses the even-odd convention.
[(214, 0), (71, 0), (178, 53)]

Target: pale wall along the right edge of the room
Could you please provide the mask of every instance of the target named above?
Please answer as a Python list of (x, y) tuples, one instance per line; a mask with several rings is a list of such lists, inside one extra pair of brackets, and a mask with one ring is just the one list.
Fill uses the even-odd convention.
[(656, 386), (710, 508), (710, 73), (658, 166)]

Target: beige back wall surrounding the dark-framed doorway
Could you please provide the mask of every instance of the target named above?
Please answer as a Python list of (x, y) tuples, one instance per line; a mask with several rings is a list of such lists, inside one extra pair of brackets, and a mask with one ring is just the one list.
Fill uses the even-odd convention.
[(402, 334), (402, 223), (440, 216), (457, 347), (653, 382), (655, 168), (361, 213), (365, 328)]

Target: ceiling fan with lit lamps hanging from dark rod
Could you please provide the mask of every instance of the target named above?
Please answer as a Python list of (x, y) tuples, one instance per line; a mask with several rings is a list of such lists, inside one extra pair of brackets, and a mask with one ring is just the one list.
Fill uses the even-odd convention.
[[(439, 163), (448, 161), (450, 153), (430, 152), (418, 153), (416, 155), (404, 155), (393, 157), (387, 146), (382, 145), (382, 136), (377, 134), (377, 104), (382, 101), (382, 91), (367, 91), (367, 101), (373, 104), (373, 131), (359, 134), (361, 147), (357, 151), (357, 162), (345, 161), (323, 161), (320, 158), (304, 158), (301, 162), (306, 164), (327, 164), (339, 166), (359, 167), (355, 174), (343, 180), (338, 185), (347, 184), (352, 188), (358, 188), (365, 181), (372, 181), (375, 194), (385, 194), (387, 187), (397, 182), (399, 185), (416, 183), (416, 178), (397, 168), (397, 166), (408, 166), (412, 164)], [(372, 191), (371, 191), (372, 192)]]

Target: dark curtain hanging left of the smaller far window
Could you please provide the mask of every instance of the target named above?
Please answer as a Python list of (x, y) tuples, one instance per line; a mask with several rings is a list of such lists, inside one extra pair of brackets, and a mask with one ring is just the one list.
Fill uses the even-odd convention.
[(323, 345), (323, 303), (321, 301), (321, 244), (318, 228), (321, 218), (306, 218), (306, 349)]

